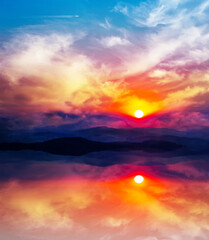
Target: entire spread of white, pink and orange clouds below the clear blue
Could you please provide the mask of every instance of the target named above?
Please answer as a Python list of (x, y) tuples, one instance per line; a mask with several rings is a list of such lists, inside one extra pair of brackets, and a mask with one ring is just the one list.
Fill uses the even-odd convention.
[[(192, 112), (194, 106), (201, 115), (209, 90), (208, 1), (189, 2), (119, 3), (103, 23), (91, 23), (94, 34), (80, 21), (79, 31), (65, 26), (46, 34), (43, 26), (36, 31), (22, 28), (1, 43), (2, 117), (27, 119), (24, 122), (34, 126), (46, 124), (47, 113), (63, 112), (82, 120), (88, 113), (130, 116), (136, 98), (138, 105), (155, 109), (149, 115), (156, 109), (163, 110), (162, 115), (177, 108)], [(127, 20), (122, 27), (115, 21), (119, 12)], [(160, 107), (151, 98), (135, 96), (137, 89), (157, 93)], [(127, 98), (129, 92), (133, 95)], [(121, 100), (125, 112), (111, 109)], [(48, 117), (53, 124), (66, 120), (70, 119), (59, 114)], [(114, 126), (118, 116), (116, 122)]]

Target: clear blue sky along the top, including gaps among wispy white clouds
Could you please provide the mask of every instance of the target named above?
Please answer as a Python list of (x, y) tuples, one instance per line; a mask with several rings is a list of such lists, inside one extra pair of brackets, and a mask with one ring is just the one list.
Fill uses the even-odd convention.
[[(68, 20), (64, 16), (79, 15), (78, 21), (85, 22), (86, 25), (89, 22), (96, 20), (104, 20), (105, 18), (111, 18), (118, 25), (127, 24), (127, 19), (124, 14), (116, 13), (113, 9), (116, 5), (128, 6), (129, 11), (140, 4), (147, 5), (150, 9), (156, 7), (159, 2), (164, 4), (164, 1), (157, 0), (131, 0), (131, 1), (117, 1), (117, 0), (1, 0), (0, 7), (0, 31), (7, 32), (14, 28), (19, 28), (27, 25), (40, 25), (52, 20)], [(170, 1), (175, 5), (179, 1)], [(194, 8), (195, 5), (205, 2), (204, 0), (194, 1), (180, 1), (179, 9), (186, 6), (187, 9)], [(171, 3), (171, 5), (172, 5)], [(147, 8), (146, 6), (146, 8)], [(146, 15), (145, 11), (141, 12), (142, 17)], [(172, 11), (176, 11), (175, 7), (169, 13), (172, 16)], [(53, 19), (54, 17), (54, 19)], [(130, 17), (130, 16), (129, 16)], [(71, 21), (73, 21), (71, 19)]]

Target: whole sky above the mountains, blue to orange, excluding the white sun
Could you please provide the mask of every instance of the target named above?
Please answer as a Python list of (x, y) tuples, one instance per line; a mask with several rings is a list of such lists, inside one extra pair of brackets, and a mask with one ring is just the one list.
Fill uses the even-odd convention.
[(1, 0), (0, 128), (208, 128), (208, 12), (207, 0)]

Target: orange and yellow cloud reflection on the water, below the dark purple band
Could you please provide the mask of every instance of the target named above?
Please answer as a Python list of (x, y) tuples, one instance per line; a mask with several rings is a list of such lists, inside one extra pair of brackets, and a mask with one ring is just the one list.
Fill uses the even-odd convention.
[(5, 239), (8, 236), (14, 240), (42, 239), (45, 236), (66, 240), (88, 236), (93, 240), (185, 237), (206, 240), (208, 182), (184, 180), (180, 183), (144, 172), (145, 181), (138, 185), (133, 180), (133, 169), (130, 175), (102, 180), (98, 177), (98, 167), (94, 173), (92, 167), (91, 170), (84, 168), (90, 178), (84, 174), (51, 180), (2, 182), (0, 231)]

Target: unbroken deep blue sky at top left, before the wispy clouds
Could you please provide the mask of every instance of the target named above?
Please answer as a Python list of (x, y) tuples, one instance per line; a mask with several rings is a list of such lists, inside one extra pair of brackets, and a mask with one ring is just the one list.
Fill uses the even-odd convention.
[(81, 18), (103, 18), (118, 1), (97, 0), (1, 0), (0, 26), (3, 29), (41, 23), (48, 16), (79, 15)]

